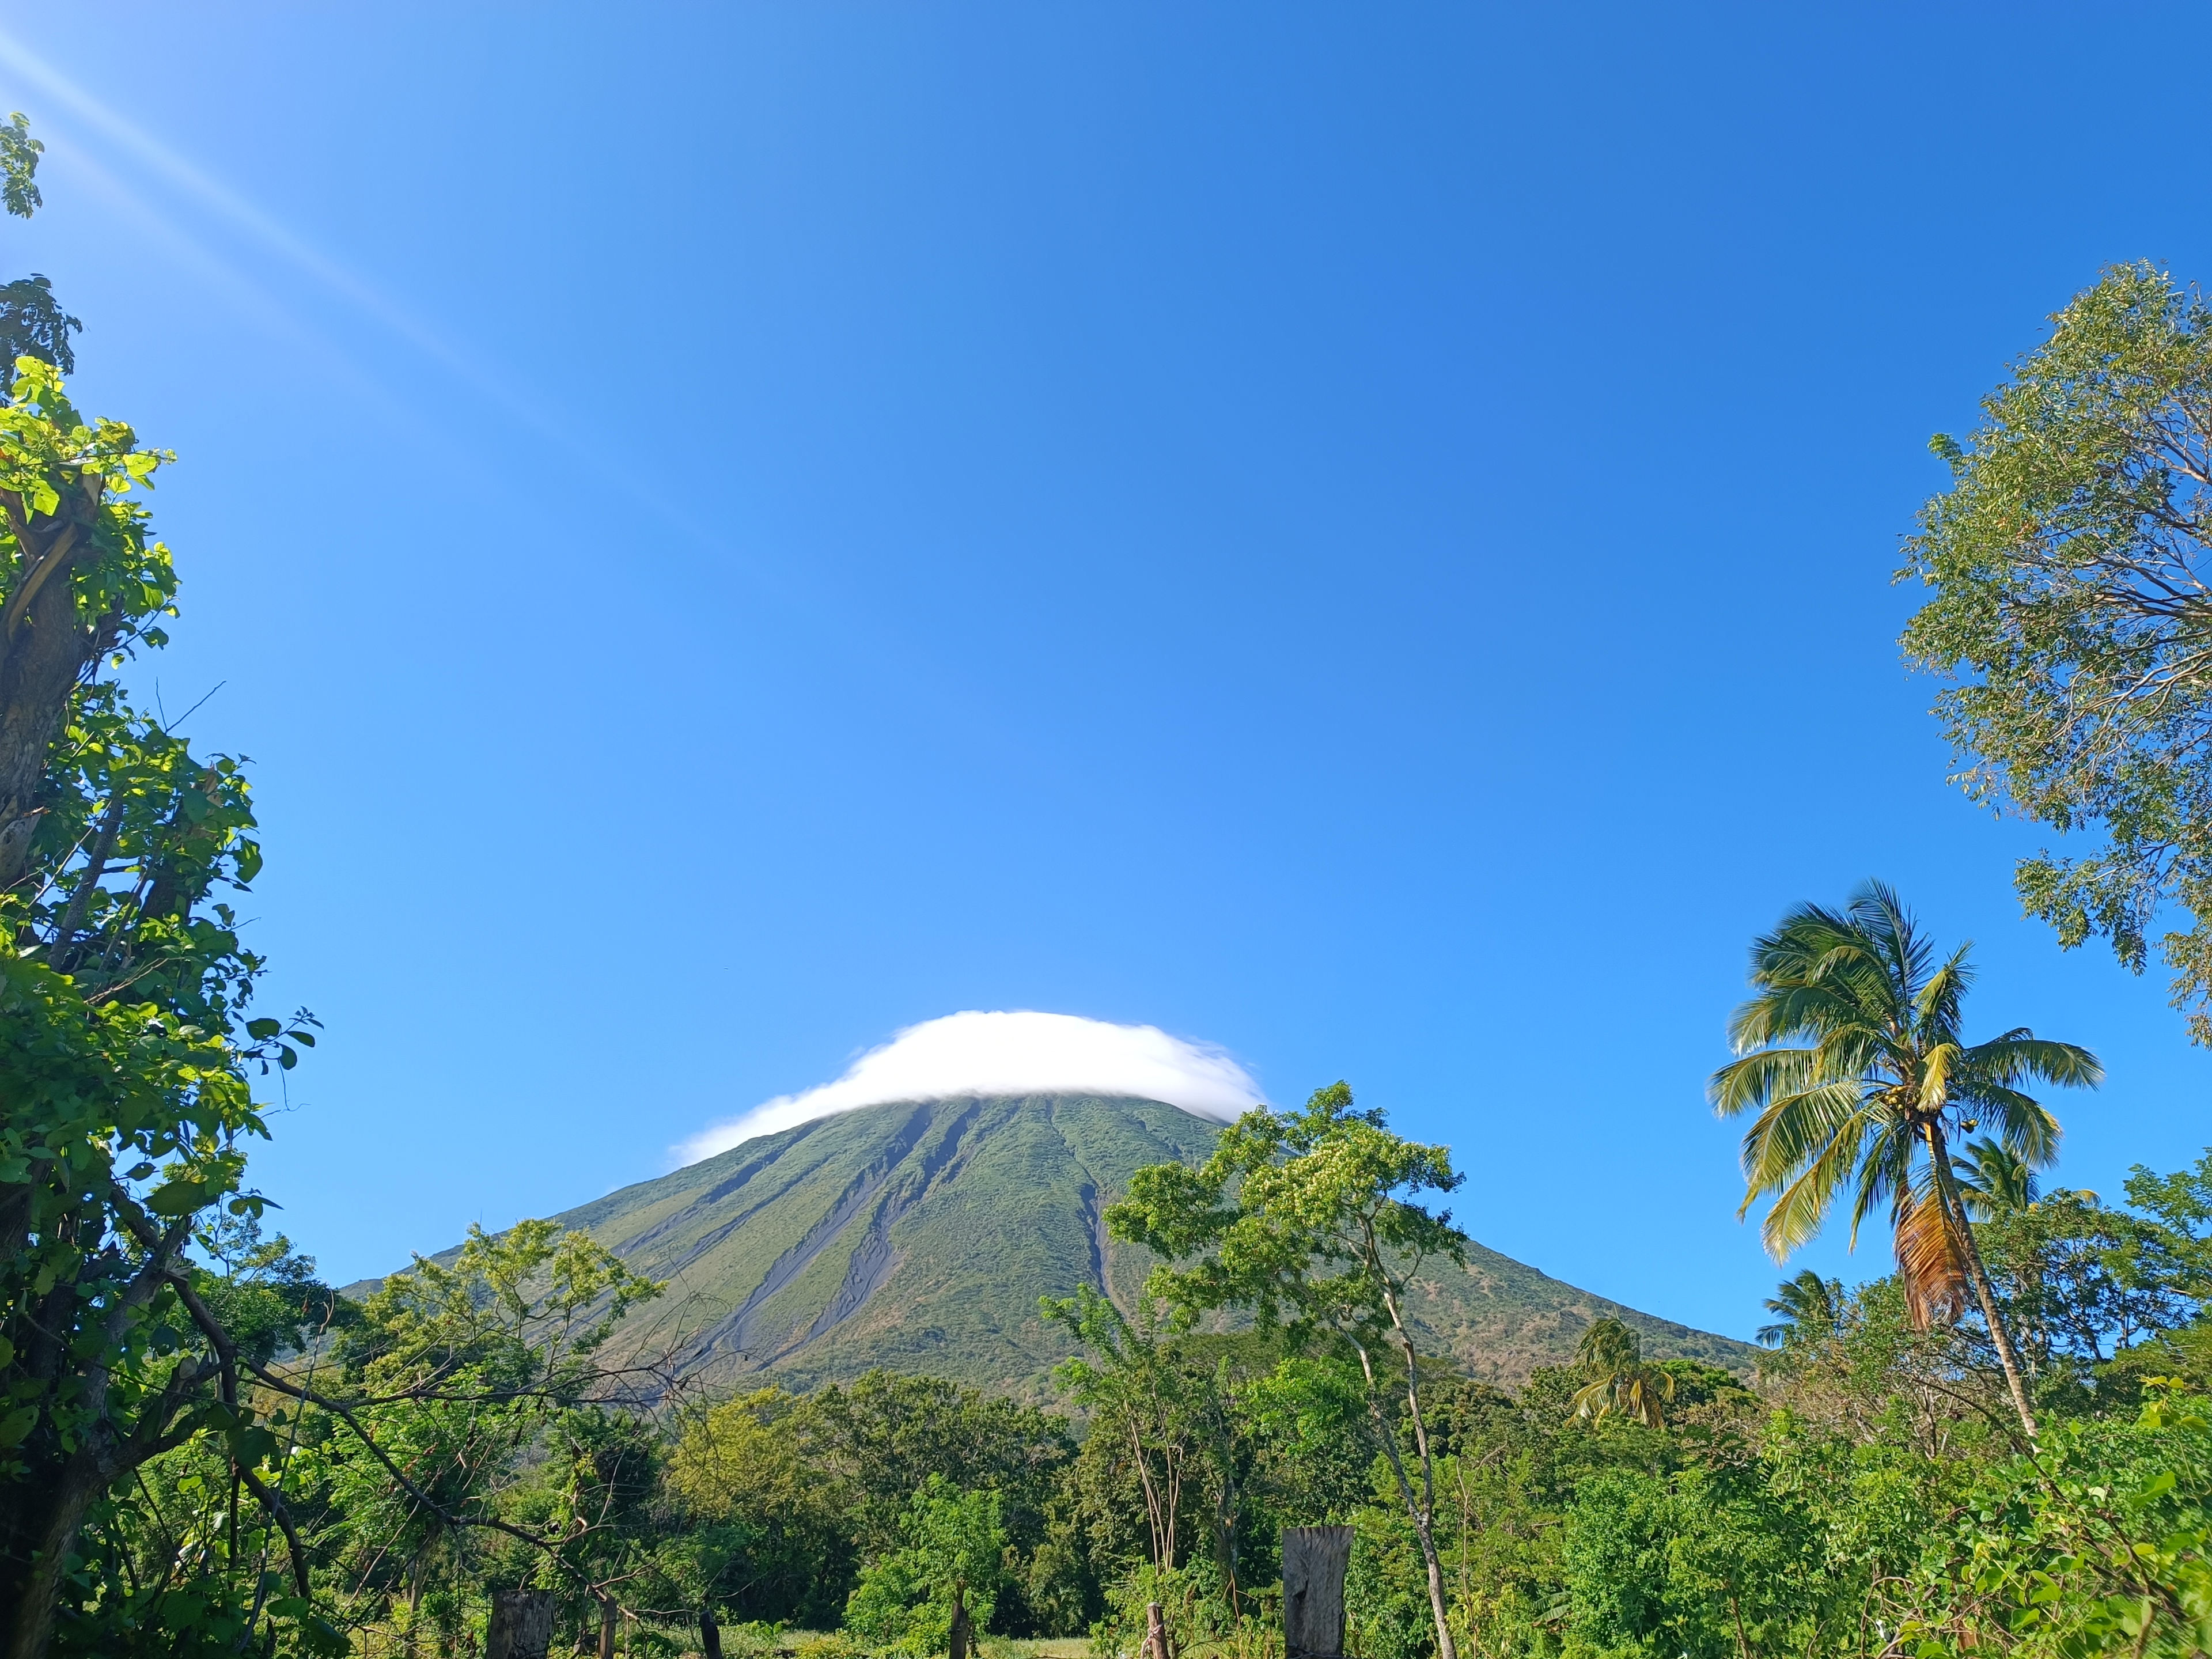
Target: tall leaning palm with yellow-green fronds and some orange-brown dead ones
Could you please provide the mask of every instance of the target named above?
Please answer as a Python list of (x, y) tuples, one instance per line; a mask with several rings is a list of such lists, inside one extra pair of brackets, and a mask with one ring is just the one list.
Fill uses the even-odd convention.
[(1712, 1075), (1710, 1095), (1721, 1117), (1754, 1113), (1739, 1214), (1774, 1199), (1761, 1225), (1767, 1252), (1785, 1261), (1845, 1192), (1854, 1243), (1887, 1208), (1913, 1318), (1955, 1318), (1971, 1285), (2033, 1440), (2035, 1411), (1960, 1206), (1951, 1139), (1986, 1124), (2015, 1159), (2048, 1166), (2057, 1119), (2020, 1086), (2095, 1088), (2104, 1066), (2026, 1026), (1966, 1044), (1960, 1002), (1971, 982), (1966, 947), (1938, 962), (1882, 883), (1840, 911), (1798, 905), (1752, 942), (1752, 998), (1728, 1026), (1736, 1060)]

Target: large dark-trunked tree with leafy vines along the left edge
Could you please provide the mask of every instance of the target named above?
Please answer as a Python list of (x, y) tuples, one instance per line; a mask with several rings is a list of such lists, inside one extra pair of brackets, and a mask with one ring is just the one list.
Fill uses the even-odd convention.
[(210, 1425), (246, 1444), (237, 1367), (179, 1307), (188, 1243), (212, 1214), (259, 1214), (250, 1077), (314, 1037), (248, 1018), (261, 958), (223, 900), (261, 867), (239, 763), (195, 754), (113, 679), (173, 613), (142, 504), (168, 456), (80, 416), (51, 365), (15, 372), (0, 405), (0, 1630), (9, 1659), (40, 1659), (104, 1493)]

